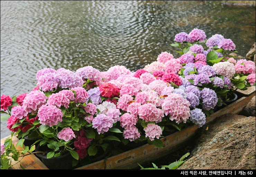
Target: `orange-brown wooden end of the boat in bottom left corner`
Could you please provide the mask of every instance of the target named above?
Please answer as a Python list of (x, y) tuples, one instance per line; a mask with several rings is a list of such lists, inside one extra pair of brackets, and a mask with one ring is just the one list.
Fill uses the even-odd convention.
[[(10, 137), (10, 136), (8, 136)], [(4, 143), (4, 141), (8, 138), (2, 138), (1, 139), (1, 143)], [(19, 139), (16, 136), (12, 137), (12, 144), (14, 144), (16, 146), (17, 142), (19, 141)], [(23, 145), (23, 147), (25, 147)], [(16, 149), (22, 149), (21, 147), (17, 146)], [(26, 153), (29, 154), (29, 153)], [(19, 158), (21, 159), (21, 157)], [(17, 161), (12, 160), (11, 164), (16, 164)], [(20, 163), (13, 165), (11, 168), (12, 169), (22, 169), (20, 167), (20, 164), (25, 168), (25, 169), (48, 169), (41, 160), (39, 160), (34, 154), (30, 154), (27, 156), (24, 156), (24, 158), (20, 161)]]

